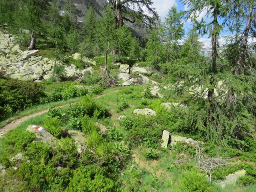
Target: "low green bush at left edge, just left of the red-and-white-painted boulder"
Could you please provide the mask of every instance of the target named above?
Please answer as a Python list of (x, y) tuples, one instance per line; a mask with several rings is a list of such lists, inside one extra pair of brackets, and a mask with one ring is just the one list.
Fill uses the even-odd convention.
[(22, 152), (34, 138), (34, 134), (20, 129), (6, 132), (0, 140), (0, 164), (10, 166), (9, 159)]

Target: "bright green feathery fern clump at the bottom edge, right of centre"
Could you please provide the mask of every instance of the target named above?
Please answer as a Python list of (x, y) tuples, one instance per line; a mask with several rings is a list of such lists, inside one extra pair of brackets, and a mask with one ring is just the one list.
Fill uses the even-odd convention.
[(185, 172), (180, 180), (180, 188), (184, 192), (217, 192), (217, 187), (211, 186), (207, 178), (198, 172)]

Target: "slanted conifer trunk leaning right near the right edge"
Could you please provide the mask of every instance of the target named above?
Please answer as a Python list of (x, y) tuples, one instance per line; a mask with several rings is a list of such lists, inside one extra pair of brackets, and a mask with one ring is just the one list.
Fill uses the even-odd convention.
[(243, 37), (241, 49), (240, 49), (240, 52), (238, 55), (238, 60), (236, 62), (236, 69), (234, 71), (235, 75), (241, 74), (241, 68), (242, 68), (242, 64), (244, 62), (244, 54), (245, 54), (245, 50), (247, 48), (248, 34), (249, 34), (251, 22), (252, 22), (252, 8), (253, 8), (253, 4), (250, 4), (248, 20), (247, 20), (247, 24), (244, 29), (244, 37)]

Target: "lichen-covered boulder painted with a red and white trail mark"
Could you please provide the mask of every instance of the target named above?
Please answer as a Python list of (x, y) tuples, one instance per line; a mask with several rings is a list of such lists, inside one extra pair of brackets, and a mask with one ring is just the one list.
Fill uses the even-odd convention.
[(30, 133), (36, 134), (34, 141), (42, 141), (45, 144), (49, 144), (51, 147), (55, 146), (57, 138), (55, 138), (48, 130), (37, 125), (29, 125), (26, 129)]

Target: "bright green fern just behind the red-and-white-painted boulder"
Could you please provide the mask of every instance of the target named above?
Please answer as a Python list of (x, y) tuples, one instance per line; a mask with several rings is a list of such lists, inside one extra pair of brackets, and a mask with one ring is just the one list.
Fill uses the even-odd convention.
[(60, 136), (62, 132), (61, 121), (58, 117), (46, 117), (44, 120), (44, 128), (46, 128), (54, 137)]

